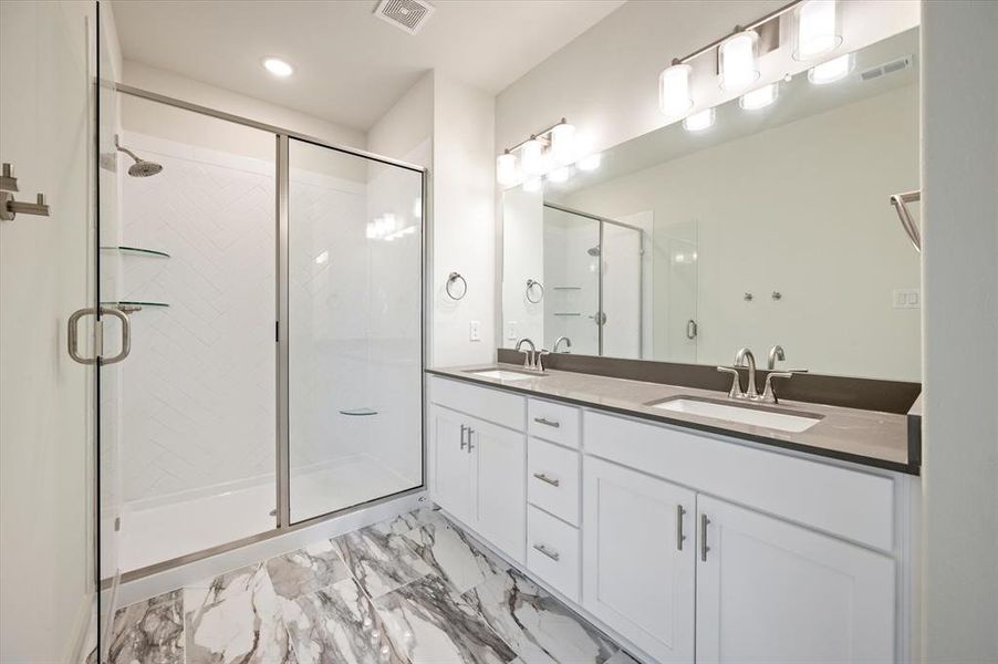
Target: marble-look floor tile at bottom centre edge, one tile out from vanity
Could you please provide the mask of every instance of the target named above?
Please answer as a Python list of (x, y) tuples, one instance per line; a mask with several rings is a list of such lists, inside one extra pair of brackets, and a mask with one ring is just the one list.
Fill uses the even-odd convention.
[(517, 657), (475, 609), (436, 574), (377, 600), (388, 636), (413, 664), (508, 664)]

